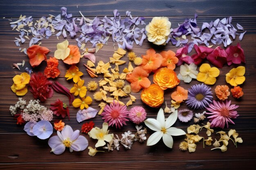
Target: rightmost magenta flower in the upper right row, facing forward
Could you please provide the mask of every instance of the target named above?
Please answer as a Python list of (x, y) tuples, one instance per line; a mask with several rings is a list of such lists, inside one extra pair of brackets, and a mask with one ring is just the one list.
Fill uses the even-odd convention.
[(241, 48), (239, 42), (236, 46), (229, 46), (226, 49), (227, 53), (227, 64), (230, 66), (232, 63), (240, 64), (241, 62), (245, 63), (244, 50)]

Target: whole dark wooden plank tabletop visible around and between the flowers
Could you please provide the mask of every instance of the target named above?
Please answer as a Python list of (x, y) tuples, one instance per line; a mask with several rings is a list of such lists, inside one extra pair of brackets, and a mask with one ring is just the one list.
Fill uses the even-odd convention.
[[(182, 152), (179, 149), (180, 142), (184, 139), (184, 136), (174, 137), (173, 148), (167, 148), (164, 143), (159, 141), (155, 146), (146, 146), (146, 143), (138, 143), (132, 145), (130, 150), (126, 150), (121, 147), (119, 151), (97, 153), (96, 156), (90, 157), (88, 155), (88, 149), (82, 152), (70, 153), (66, 150), (62, 155), (54, 155), (49, 151), (51, 148), (48, 146), (46, 140), (40, 140), (37, 137), (30, 137), (23, 130), (24, 126), (16, 124), (16, 120), (11, 117), (9, 112), (9, 106), (14, 105), (18, 101), (18, 97), (11, 92), (10, 86), (12, 85), (12, 78), (14, 77), (14, 71), (17, 69), (12, 68), (13, 63), (22, 62), (25, 60), (25, 66), (21, 68), (21, 72), (25, 67), (29, 67), (28, 57), (24, 53), (20, 53), (13, 40), (18, 37), (17, 31), (11, 30), (9, 20), (17, 20), (22, 15), (32, 16), (34, 20), (42, 16), (48, 16), (48, 14), (58, 15), (61, 13), (60, 8), (67, 7), (68, 13), (72, 13), (73, 16), (80, 17), (79, 10), (86, 17), (103, 17), (105, 15), (112, 16), (112, 11), (118, 9), (121, 15), (125, 14), (125, 11), (131, 11), (133, 16), (146, 17), (146, 24), (154, 16), (167, 16), (172, 23), (172, 28), (177, 27), (178, 23), (182, 23), (185, 18), (193, 18), (193, 15), (197, 13), (199, 15), (197, 21), (201, 28), (202, 22), (210, 22), (217, 18), (224, 18), (232, 16), (232, 23), (234, 26), (239, 23), (247, 31), (242, 41), (236, 40), (231, 45), (236, 45), (240, 42), (242, 48), (245, 51), (246, 57), (246, 81), (242, 85), (244, 96), (236, 100), (229, 96), (232, 104), (239, 105), (237, 109), (239, 117), (234, 120), (235, 125), (230, 125), (229, 129), (236, 129), (239, 136), (243, 139), (243, 144), (238, 144), (236, 148), (233, 144), (228, 145), (228, 150), (224, 153), (220, 150), (212, 150), (212, 146), (202, 147), (202, 142), (197, 145), (194, 153)], [(253, 169), (256, 161), (256, 1), (243, 1), (243, 0), (193, 0), (185, 2), (182, 0), (94, 0), (94, 1), (33, 1), (33, 0), (1, 0), (0, 1), (0, 140), (1, 140), (1, 152), (0, 152), (0, 168), (1, 169)], [(47, 56), (54, 55), (56, 50), (56, 44), (62, 42), (64, 38), (61, 36), (60, 40), (57, 40), (55, 36), (50, 37), (48, 40), (42, 40), (42, 45), (52, 50)], [(76, 45), (76, 41), (71, 38), (67, 38), (70, 44)], [(29, 41), (25, 42), (22, 47), (27, 48)], [(86, 44), (87, 47), (91, 47), (90, 43)], [(146, 50), (153, 47), (157, 52), (173, 50), (178, 48), (168, 43), (166, 46), (155, 46), (145, 40), (143, 46), (134, 46), (133, 51), (137, 55), (143, 55)], [(215, 47), (215, 46), (213, 46)], [(103, 60), (108, 61), (108, 57), (112, 56), (114, 48), (112, 42), (108, 42), (108, 46), (104, 46), (97, 53), (97, 62)], [(79, 69), (84, 73), (82, 78), (85, 83), (92, 80), (88, 73), (85, 71), (83, 64), (85, 58), (77, 64)], [(43, 62), (34, 69), (35, 72), (43, 71), (46, 66), (46, 62)], [(219, 84), (227, 84), (225, 82), (225, 74), (229, 72), (234, 66), (225, 65), (220, 69), (220, 76), (217, 79), (216, 84), (211, 86), (212, 91)], [(73, 83), (67, 81), (64, 78), (66, 70), (69, 66), (60, 62), (59, 69), (61, 75), (57, 78), (59, 82), (71, 88)], [(123, 68), (123, 67), (121, 67)], [(179, 73), (179, 67), (175, 69), (176, 73)], [(94, 80), (99, 80), (94, 79)], [(152, 80), (152, 75), (151, 75)], [(189, 88), (193, 84), (198, 84), (196, 80), (193, 80), (190, 84), (185, 84), (181, 81), (180, 86)], [(229, 86), (231, 87), (231, 86)], [(171, 89), (166, 91), (164, 97), (167, 104), (170, 106), (171, 98), (170, 94), (175, 91)], [(88, 92), (89, 96), (93, 93)], [(134, 93), (137, 97), (137, 101), (132, 106), (143, 106), (147, 113), (148, 118), (156, 118), (158, 109), (150, 108), (143, 104), (140, 100), (140, 93)], [(27, 101), (33, 99), (31, 93), (27, 93), (24, 97)], [(65, 103), (68, 102), (67, 97), (64, 95), (54, 93), (54, 96), (47, 99), (43, 104), (49, 108), (50, 103), (53, 103), (57, 98), (62, 99)], [(214, 95), (214, 99), (216, 96)], [(127, 101), (127, 99), (125, 99)], [(97, 106), (99, 103), (93, 101), (92, 107), (99, 109)], [(129, 107), (130, 109), (131, 107)], [(162, 106), (164, 108), (164, 105)], [(183, 103), (180, 108), (186, 108)], [(76, 112), (78, 109), (70, 107), (70, 121), (67, 117), (64, 119), (65, 123), (72, 126), (74, 130), (81, 130), (83, 123), (76, 121)], [(194, 112), (197, 113), (197, 112)], [(56, 117), (54, 117), (56, 119)], [(97, 115), (92, 119), (95, 126), (101, 127), (103, 120), (101, 116)], [(88, 122), (88, 121), (86, 121)], [(203, 121), (206, 123), (207, 120)], [(174, 127), (182, 128), (186, 131), (186, 128), (193, 124), (193, 121), (189, 123), (181, 123), (176, 121)], [(145, 126), (145, 125), (144, 125)], [(225, 128), (227, 132), (229, 129)], [(110, 128), (110, 132), (118, 134), (124, 133), (128, 130), (135, 132), (135, 125), (129, 122), (127, 126), (121, 130)], [(217, 132), (220, 129), (215, 129)], [(219, 138), (219, 135), (212, 135), (214, 138)], [(148, 129), (147, 138), (153, 133)], [(56, 132), (54, 131), (54, 134)], [(91, 139), (88, 135), (85, 136), (89, 141), (89, 146), (96, 144), (94, 139)], [(200, 135), (206, 137), (205, 131), (200, 132)]]

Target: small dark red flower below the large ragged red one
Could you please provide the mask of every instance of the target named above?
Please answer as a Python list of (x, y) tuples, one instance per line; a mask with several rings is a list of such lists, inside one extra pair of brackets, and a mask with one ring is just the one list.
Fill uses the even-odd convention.
[(50, 109), (53, 111), (54, 115), (61, 116), (62, 118), (65, 118), (67, 115), (70, 120), (70, 111), (68, 110), (67, 105), (63, 104), (60, 99), (57, 99), (55, 103), (51, 104), (51, 106), (52, 107), (50, 107)]

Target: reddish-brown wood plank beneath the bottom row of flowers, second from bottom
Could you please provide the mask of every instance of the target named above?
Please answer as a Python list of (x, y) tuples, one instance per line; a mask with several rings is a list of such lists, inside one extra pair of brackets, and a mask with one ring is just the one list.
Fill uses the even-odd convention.
[[(72, 152), (65, 150), (61, 155), (54, 155), (49, 151), (48, 139), (40, 140), (37, 137), (30, 137), (27, 134), (7, 133), (0, 134), (2, 141), (2, 154), (0, 155), (0, 163), (60, 163), (60, 162), (119, 162), (119, 161), (195, 161), (195, 160), (248, 160), (256, 159), (255, 150), (256, 145), (256, 131), (242, 132), (238, 131), (239, 137), (242, 137), (243, 144), (238, 144), (238, 148), (234, 146), (232, 141), (229, 141), (226, 152), (220, 150), (211, 150), (213, 146), (205, 146), (203, 148), (202, 142), (197, 143), (195, 152), (182, 152), (179, 149), (180, 142), (184, 136), (173, 137), (173, 148), (167, 148), (162, 139), (155, 146), (146, 146), (146, 143), (140, 144), (135, 142), (130, 150), (126, 150), (123, 146), (120, 150), (112, 152), (98, 152), (97, 155), (91, 157), (88, 155), (88, 149), (81, 152)], [(116, 133), (115, 133), (116, 134)], [(117, 133), (120, 136), (120, 133)], [(54, 134), (56, 135), (56, 134)], [(88, 135), (84, 135), (88, 141), (89, 146), (94, 147), (97, 140), (90, 139)], [(147, 137), (150, 135), (147, 134)], [(201, 133), (200, 133), (201, 135)], [(205, 133), (202, 136), (206, 137)], [(212, 134), (211, 137), (219, 139), (219, 134)], [(97, 150), (103, 150), (98, 148)], [(36, 157), (35, 157), (36, 155)], [(162, 166), (161, 166), (162, 168)], [(110, 168), (111, 169), (111, 168)]]

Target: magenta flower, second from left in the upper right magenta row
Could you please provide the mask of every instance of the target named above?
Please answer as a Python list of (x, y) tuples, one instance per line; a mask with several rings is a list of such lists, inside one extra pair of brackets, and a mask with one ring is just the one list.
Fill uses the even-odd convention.
[(195, 65), (200, 64), (204, 60), (204, 58), (213, 51), (213, 49), (209, 47), (198, 46), (197, 44), (194, 45), (194, 49), (197, 54), (194, 54), (191, 57), (193, 58)]

